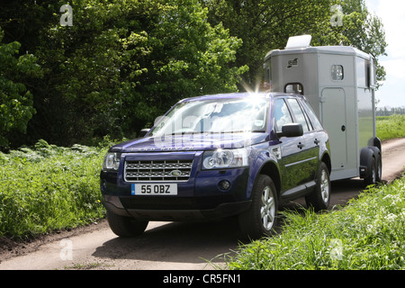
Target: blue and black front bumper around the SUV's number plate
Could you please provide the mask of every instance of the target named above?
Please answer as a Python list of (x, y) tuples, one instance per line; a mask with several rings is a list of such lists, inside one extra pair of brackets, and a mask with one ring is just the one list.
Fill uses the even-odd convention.
[[(247, 167), (201, 170), (198, 163), (190, 179), (177, 183), (177, 195), (131, 195), (131, 184), (120, 171), (101, 172), (103, 204), (109, 211), (138, 220), (216, 220), (246, 211)], [(229, 181), (229, 188), (220, 186)]]

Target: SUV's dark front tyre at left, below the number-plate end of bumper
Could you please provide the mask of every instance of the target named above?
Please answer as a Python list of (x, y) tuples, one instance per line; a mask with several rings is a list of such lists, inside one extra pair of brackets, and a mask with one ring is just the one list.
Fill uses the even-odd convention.
[(112, 232), (119, 237), (135, 237), (141, 235), (148, 226), (148, 221), (133, 220), (130, 217), (117, 215), (107, 210), (107, 220)]

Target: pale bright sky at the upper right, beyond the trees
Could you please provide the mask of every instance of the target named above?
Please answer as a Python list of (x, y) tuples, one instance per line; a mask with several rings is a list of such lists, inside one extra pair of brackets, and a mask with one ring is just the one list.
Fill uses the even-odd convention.
[(404, 0), (365, 0), (368, 11), (383, 22), (388, 57), (379, 57), (387, 72), (383, 86), (375, 92), (378, 108), (405, 107), (405, 19)]

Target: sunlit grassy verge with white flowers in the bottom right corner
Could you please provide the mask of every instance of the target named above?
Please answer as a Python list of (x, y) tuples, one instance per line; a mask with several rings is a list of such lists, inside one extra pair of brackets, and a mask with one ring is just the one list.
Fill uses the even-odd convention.
[(285, 211), (273, 238), (241, 246), (229, 269), (397, 270), (405, 268), (405, 177), (371, 187), (344, 209)]

